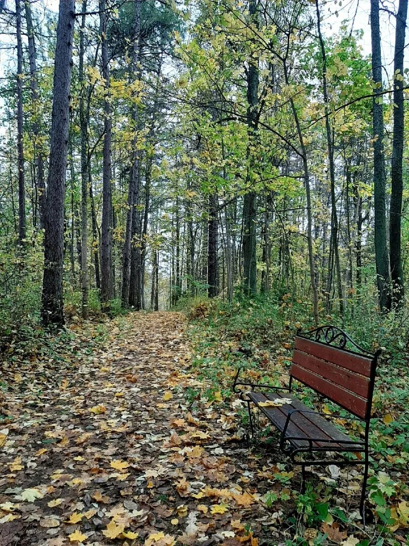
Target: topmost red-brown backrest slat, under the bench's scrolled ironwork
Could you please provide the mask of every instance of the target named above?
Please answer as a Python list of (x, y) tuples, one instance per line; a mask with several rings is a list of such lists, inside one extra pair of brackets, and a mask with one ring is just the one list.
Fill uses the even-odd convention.
[(324, 343), (308, 340), (299, 336), (296, 336), (295, 346), (299, 351), (312, 354), (314, 357), (327, 360), (328, 362), (346, 368), (347, 370), (360, 373), (360, 375), (365, 377), (370, 377), (372, 359), (369, 357), (350, 353), (344, 351), (344, 349), (324, 345)]

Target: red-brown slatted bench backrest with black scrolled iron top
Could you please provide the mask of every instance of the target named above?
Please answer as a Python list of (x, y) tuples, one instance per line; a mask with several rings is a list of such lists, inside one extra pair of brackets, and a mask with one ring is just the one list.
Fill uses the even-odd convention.
[(333, 326), (297, 333), (290, 373), (355, 416), (369, 420), (380, 352), (353, 352), (345, 348), (347, 342), (355, 345)]

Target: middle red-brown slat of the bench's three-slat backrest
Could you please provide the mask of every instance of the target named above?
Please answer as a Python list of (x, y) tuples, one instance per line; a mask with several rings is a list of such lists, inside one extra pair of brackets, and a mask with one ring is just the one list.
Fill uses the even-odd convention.
[(297, 349), (294, 351), (292, 361), (300, 367), (306, 368), (324, 379), (328, 379), (328, 381), (368, 399), (368, 378), (346, 370), (344, 367), (327, 362), (326, 360), (321, 360), (311, 354), (298, 351)]

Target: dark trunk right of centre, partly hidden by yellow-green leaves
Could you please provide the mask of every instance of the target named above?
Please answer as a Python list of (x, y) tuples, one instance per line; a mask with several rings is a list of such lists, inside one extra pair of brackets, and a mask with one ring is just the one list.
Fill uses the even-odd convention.
[[(257, 26), (257, 8), (256, 1), (249, 0), (250, 22)], [(247, 124), (249, 147), (248, 155), (250, 159), (252, 153), (253, 141), (256, 139), (254, 134), (257, 130), (257, 105), (258, 105), (258, 59), (249, 59), (249, 68), (247, 70)], [(252, 167), (253, 161), (250, 161)], [(251, 185), (251, 167), (248, 170), (246, 185)], [(257, 291), (257, 262), (256, 262), (256, 225), (257, 225), (257, 195), (250, 191), (244, 195), (243, 203), (243, 281), (244, 293), (255, 294)]]

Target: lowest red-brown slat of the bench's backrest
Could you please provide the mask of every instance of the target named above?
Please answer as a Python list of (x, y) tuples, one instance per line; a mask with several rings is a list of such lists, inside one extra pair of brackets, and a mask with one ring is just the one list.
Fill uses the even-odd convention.
[(367, 400), (300, 367), (298, 364), (292, 364), (291, 375), (308, 387), (326, 396), (329, 400), (339, 404), (345, 410), (350, 411), (361, 419), (365, 419)]

